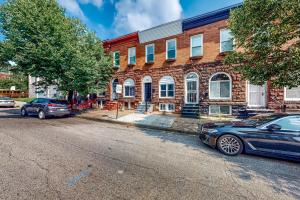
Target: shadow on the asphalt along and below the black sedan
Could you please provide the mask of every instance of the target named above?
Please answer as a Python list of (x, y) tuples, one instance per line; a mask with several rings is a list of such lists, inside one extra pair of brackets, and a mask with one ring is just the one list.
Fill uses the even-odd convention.
[[(292, 195), (300, 199), (300, 164), (280, 159), (259, 157), (255, 155), (225, 156), (200, 142), (196, 135), (185, 135), (167, 131), (157, 131), (151, 129), (140, 130), (152, 137), (161, 139), (163, 142), (175, 142), (184, 144), (194, 150), (200, 151), (216, 159), (223, 159), (230, 163), (224, 170), (241, 179), (241, 181), (250, 181), (257, 177), (262, 178), (271, 184), (274, 191)], [(255, 191), (252, 191), (255, 194)]]

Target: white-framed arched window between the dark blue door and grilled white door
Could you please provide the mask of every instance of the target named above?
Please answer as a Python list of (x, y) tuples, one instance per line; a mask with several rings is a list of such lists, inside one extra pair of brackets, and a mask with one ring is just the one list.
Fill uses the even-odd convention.
[(164, 76), (159, 81), (159, 97), (171, 98), (174, 97), (174, 79), (171, 76)]

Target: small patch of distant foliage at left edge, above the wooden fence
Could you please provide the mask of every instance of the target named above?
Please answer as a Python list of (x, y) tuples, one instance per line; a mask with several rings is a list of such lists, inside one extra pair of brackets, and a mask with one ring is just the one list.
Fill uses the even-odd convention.
[(0, 79), (0, 89), (9, 90), (11, 86), (16, 86), (16, 90), (28, 90), (27, 76), (11, 75), (9, 78)]

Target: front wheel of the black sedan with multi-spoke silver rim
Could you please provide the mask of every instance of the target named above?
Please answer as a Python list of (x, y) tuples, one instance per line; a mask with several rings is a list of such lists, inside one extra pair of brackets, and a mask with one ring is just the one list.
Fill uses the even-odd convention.
[(219, 151), (228, 156), (236, 156), (243, 152), (242, 141), (234, 135), (222, 135), (217, 145)]

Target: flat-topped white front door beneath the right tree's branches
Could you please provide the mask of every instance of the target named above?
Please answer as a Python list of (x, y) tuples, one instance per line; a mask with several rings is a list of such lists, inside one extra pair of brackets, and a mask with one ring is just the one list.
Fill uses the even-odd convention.
[(266, 84), (252, 85), (248, 83), (248, 107), (266, 107)]

